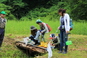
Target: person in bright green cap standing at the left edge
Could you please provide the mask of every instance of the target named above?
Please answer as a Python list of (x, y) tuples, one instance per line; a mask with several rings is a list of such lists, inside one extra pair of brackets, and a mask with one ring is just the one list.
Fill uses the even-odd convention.
[(4, 33), (5, 33), (5, 23), (6, 23), (5, 16), (6, 16), (6, 12), (1, 11), (0, 12), (0, 47), (2, 46)]

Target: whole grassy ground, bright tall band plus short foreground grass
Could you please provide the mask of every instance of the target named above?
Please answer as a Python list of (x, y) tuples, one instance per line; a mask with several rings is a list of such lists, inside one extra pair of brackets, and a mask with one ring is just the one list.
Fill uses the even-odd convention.
[[(48, 41), (49, 34), (56, 33), (57, 27), (59, 26), (59, 21), (43, 21), (48, 23), (52, 31), (45, 35), (45, 38)], [(69, 40), (73, 42), (69, 46), (67, 54), (58, 54), (58, 50), (53, 49), (52, 58), (87, 58), (87, 22), (73, 22), (74, 29), (69, 35)], [(17, 49), (15, 46), (15, 40), (20, 41), (24, 37), (30, 35), (30, 26), (36, 26), (39, 29), (39, 26), (33, 21), (9, 21), (6, 24), (6, 34), (5, 39), (2, 45), (2, 50), (0, 50), (0, 58), (33, 58), (27, 56), (21, 50)], [(58, 31), (59, 33), (59, 31)], [(34, 58), (47, 58), (47, 54), (42, 56), (38, 55)]]

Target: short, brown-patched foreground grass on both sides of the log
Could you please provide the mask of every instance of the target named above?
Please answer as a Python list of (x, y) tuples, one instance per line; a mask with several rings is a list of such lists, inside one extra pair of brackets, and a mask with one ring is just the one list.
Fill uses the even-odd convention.
[[(12, 36), (14, 37), (12, 38)], [(36, 57), (29, 57), (15, 46), (15, 40), (22, 40), (22, 38), (26, 36), (7, 35), (4, 39), (2, 50), (0, 50), (0, 58), (47, 58), (47, 53), (42, 56), (38, 55)], [(49, 37), (49, 34), (46, 35), (46, 37)], [(53, 49), (52, 58), (87, 58), (87, 36), (71, 34), (69, 37), (69, 40), (71, 40), (73, 44), (69, 45), (68, 53), (59, 54), (57, 49)]]

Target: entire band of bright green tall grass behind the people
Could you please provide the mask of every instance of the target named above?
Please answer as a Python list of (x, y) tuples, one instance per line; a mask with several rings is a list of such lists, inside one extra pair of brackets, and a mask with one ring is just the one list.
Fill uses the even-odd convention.
[[(59, 21), (42, 20), (43, 22), (49, 24), (52, 28), (50, 33), (56, 33), (59, 27)], [(87, 35), (87, 22), (76, 22), (73, 21), (74, 28), (70, 31), (72, 34), (82, 34)], [(8, 20), (6, 24), (6, 34), (30, 34), (30, 26), (35, 26), (38, 29), (39, 25), (36, 24), (36, 20), (32, 21), (10, 21)], [(58, 30), (59, 31), (59, 30)], [(59, 33), (59, 32), (58, 32)]]

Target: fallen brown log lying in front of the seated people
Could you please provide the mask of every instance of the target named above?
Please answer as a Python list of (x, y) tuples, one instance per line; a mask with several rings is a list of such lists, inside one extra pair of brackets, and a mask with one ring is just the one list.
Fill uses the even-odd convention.
[(29, 51), (30, 53), (46, 53), (47, 50), (44, 47), (38, 47), (36, 45), (31, 45), (31, 44), (25, 44), (24, 42), (21, 41), (16, 41), (15, 45), (19, 48), (25, 49)]

